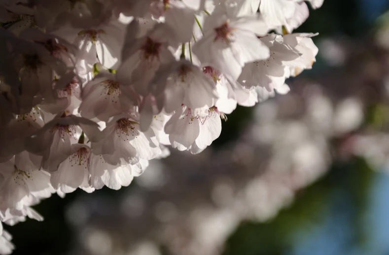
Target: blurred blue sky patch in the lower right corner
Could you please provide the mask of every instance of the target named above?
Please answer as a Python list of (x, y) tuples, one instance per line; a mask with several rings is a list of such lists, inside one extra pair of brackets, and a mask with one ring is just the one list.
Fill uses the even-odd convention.
[(376, 172), (368, 194), (369, 204), (362, 228), (367, 240), (355, 243), (355, 230), (348, 197), (333, 193), (324, 210), (324, 220), (300, 229), (294, 247), (286, 255), (389, 255), (389, 174)]

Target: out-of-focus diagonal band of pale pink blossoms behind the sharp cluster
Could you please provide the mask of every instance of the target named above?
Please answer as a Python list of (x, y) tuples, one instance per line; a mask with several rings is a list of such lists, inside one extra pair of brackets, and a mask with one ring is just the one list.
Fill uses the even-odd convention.
[[(115, 235), (112, 220), (100, 218), (99, 229), (129, 243), (121, 249), (130, 255), (220, 255), (240, 222), (275, 217), (334, 160), (358, 155), (389, 169), (385, 111), (371, 112), (372, 105), (388, 105), (389, 64), (379, 63), (389, 55), (364, 42), (352, 45), (357, 55), (341, 45), (326, 38), (319, 47), (326, 61), (345, 68), (289, 82), (289, 94), (255, 106), (235, 141), (196, 156), (172, 151), (151, 160), (118, 202), (117, 221), (129, 226), (123, 235)], [(97, 227), (92, 219), (87, 226)]]

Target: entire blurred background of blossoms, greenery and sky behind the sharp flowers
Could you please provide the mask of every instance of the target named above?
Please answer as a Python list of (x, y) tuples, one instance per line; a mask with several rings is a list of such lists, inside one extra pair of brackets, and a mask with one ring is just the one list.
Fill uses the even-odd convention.
[(388, 0), (325, 0), (291, 92), (238, 107), (193, 156), (5, 227), (14, 255), (389, 255)]

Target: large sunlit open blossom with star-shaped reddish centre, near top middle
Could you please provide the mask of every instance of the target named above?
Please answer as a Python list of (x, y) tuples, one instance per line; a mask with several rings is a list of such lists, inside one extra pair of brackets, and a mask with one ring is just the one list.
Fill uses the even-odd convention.
[(259, 16), (231, 17), (215, 11), (204, 23), (204, 37), (193, 46), (202, 64), (211, 65), (237, 79), (245, 63), (269, 57), (257, 35), (269, 28)]

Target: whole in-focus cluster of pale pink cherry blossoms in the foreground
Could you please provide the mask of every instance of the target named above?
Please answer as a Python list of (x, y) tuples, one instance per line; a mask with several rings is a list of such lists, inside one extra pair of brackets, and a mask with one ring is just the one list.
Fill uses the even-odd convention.
[[(323, 0), (309, 0), (314, 8)], [(197, 154), (311, 68), (304, 0), (0, 0), (0, 220)], [(0, 254), (13, 246), (0, 227)]]

